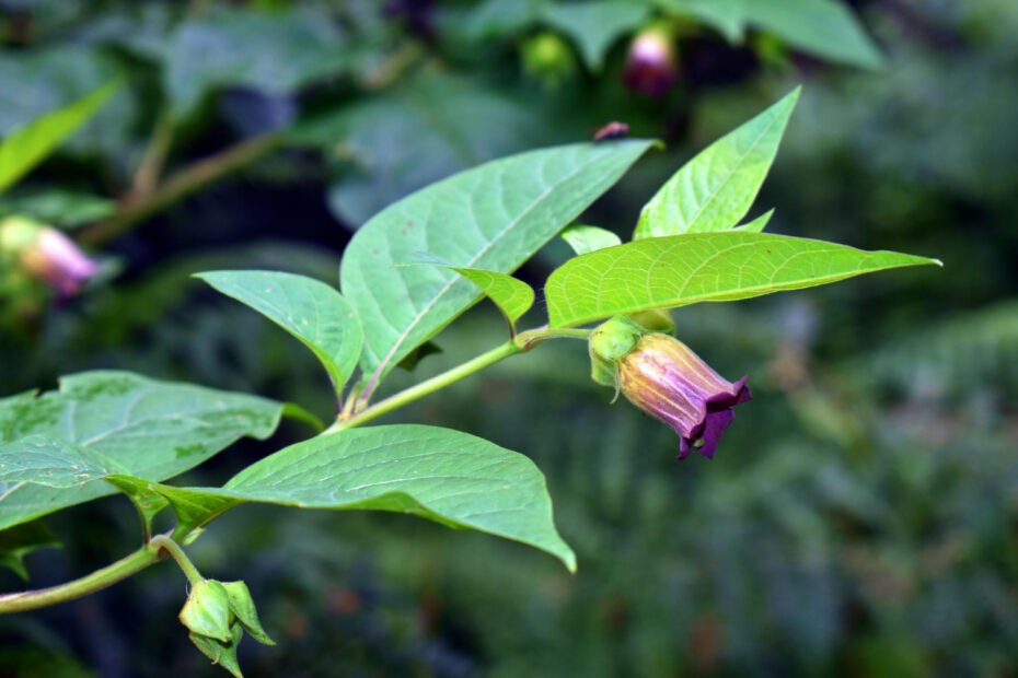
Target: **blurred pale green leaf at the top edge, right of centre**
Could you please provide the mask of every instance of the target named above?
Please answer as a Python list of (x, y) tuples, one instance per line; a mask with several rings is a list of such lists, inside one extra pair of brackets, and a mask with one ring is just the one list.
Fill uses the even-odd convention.
[(742, 42), (752, 25), (832, 61), (870, 69), (882, 63), (874, 42), (840, 0), (658, 0), (658, 4), (713, 25), (731, 42)]

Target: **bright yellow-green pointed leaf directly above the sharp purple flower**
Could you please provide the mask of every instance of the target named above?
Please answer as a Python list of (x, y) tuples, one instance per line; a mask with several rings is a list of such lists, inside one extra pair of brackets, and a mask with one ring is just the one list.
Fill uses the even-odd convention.
[(926, 257), (785, 235), (674, 235), (571, 259), (548, 278), (545, 296), (552, 327), (568, 327), (646, 308), (737, 301), (928, 264), (940, 266)]

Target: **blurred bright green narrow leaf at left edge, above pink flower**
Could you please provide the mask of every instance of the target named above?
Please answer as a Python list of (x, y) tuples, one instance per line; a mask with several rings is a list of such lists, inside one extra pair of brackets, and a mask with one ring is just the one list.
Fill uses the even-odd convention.
[(109, 83), (84, 98), (44, 115), (16, 129), (0, 143), (0, 192), (43, 162), (60, 142), (73, 135), (116, 92)]

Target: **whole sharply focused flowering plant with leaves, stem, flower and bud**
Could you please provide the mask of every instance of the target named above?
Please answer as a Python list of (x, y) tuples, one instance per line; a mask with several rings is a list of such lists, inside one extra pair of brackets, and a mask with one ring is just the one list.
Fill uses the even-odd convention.
[[(246, 503), (414, 514), (542, 549), (575, 570), (544, 476), (528, 457), (461, 431), (377, 420), (547, 341), (580, 339), (589, 342), (594, 379), (672, 426), (680, 456), (692, 449), (712, 456), (732, 408), (750, 391), (744, 377), (727, 381), (671, 336), (670, 309), (939, 264), (764, 234), (771, 212), (744, 221), (797, 97), (793, 92), (681, 167), (644, 207), (629, 243), (575, 220), (658, 145), (652, 140), (531, 151), (404, 198), (354, 236), (343, 255), (342, 291), (276, 271), (199, 274), (311, 350), (336, 397), (325, 424), (293, 404), (127, 372), (74, 374), (43, 397), (0, 399), (0, 529), (9, 530), (3, 543), (11, 549), (0, 556), (19, 563), (45, 541), (37, 527), (44, 515), (116, 492), (134, 502), (142, 541), (81, 578), (2, 595), (0, 612), (88, 595), (170, 556), (192, 585), (181, 615), (192, 640), (239, 676), (242, 638), (271, 640), (246, 587), (206, 578), (184, 548)], [(519, 328), (535, 293), (511, 272), (559, 234), (577, 256), (544, 285), (547, 317)], [(68, 261), (88, 270), (77, 257)], [(385, 390), (397, 365), (484, 297), (505, 316), (504, 343), (404, 390)], [(169, 482), (242, 436), (267, 439), (282, 417), (315, 434), (222, 487)], [(173, 529), (153, 535), (153, 517), (166, 513), (175, 517)]]

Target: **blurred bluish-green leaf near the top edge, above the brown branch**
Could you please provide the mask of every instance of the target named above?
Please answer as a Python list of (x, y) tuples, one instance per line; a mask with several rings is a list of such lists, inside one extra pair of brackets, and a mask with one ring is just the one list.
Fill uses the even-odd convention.
[(227, 86), (269, 94), (344, 71), (349, 50), (336, 23), (314, 9), (279, 12), (216, 8), (184, 22), (163, 49), (174, 113), (189, 117), (204, 96)]

